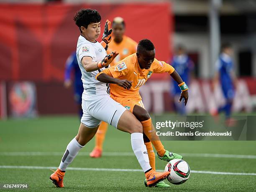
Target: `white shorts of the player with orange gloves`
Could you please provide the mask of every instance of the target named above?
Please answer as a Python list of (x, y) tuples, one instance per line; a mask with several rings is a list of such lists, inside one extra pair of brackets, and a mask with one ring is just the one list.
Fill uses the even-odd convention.
[(105, 121), (117, 128), (120, 116), (126, 110), (121, 104), (110, 98), (110, 95), (82, 94), (83, 116), (81, 123), (94, 128)]

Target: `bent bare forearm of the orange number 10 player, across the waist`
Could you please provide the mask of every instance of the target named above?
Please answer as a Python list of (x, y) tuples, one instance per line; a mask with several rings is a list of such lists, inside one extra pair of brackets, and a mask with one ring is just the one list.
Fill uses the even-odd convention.
[(128, 80), (120, 80), (117, 78), (113, 78), (108, 76), (106, 73), (101, 72), (97, 77), (97, 80), (102, 83), (114, 83), (123, 88), (130, 89), (133, 81)]

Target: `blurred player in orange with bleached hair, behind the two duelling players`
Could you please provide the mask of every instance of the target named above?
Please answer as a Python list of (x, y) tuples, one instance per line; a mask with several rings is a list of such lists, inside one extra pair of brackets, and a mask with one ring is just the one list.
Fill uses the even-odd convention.
[[(113, 29), (113, 40), (108, 44), (107, 53), (112, 51), (118, 51), (119, 55), (116, 56), (114, 61), (110, 63), (110, 66), (115, 65), (118, 61), (121, 61), (125, 57), (136, 53), (137, 45), (136, 41), (124, 35), (125, 33), (125, 22), (121, 17), (115, 17), (112, 23)], [(95, 148), (90, 153), (90, 157), (99, 158), (102, 154), (102, 146), (105, 139), (105, 134), (108, 129), (108, 124), (104, 121), (100, 124), (100, 127), (95, 137)]]

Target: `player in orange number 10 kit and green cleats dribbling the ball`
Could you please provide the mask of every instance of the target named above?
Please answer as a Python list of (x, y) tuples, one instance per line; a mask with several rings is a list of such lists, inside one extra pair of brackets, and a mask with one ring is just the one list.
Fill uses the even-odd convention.
[[(116, 66), (105, 69), (98, 73), (95, 78), (102, 83), (110, 83), (110, 97), (130, 110), (143, 126), (143, 139), (147, 148), (149, 162), (152, 169), (155, 169), (155, 154), (152, 147), (154, 145), (160, 159), (170, 161), (172, 159), (182, 159), (182, 156), (164, 149), (159, 137), (156, 135), (151, 117), (144, 109), (139, 88), (151, 77), (152, 73), (169, 73), (181, 88), (179, 102), (184, 98), (184, 104), (188, 100), (188, 87), (182, 81), (177, 71), (165, 63), (155, 58), (155, 48), (148, 39), (139, 42), (137, 53), (126, 57)], [(152, 142), (152, 144), (151, 144)], [(167, 187), (163, 182), (162, 186)], [(156, 186), (157, 187), (157, 186)]]

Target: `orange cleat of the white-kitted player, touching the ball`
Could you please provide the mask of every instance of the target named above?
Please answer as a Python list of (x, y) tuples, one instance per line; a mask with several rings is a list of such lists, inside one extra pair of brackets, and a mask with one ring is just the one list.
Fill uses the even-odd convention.
[(147, 179), (147, 185), (148, 187), (153, 187), (158, 182), (166, 179), (169, 176), (170, 172), (156, 172), (153, 169), (149, 172), (145, 173), (146, 179)]

